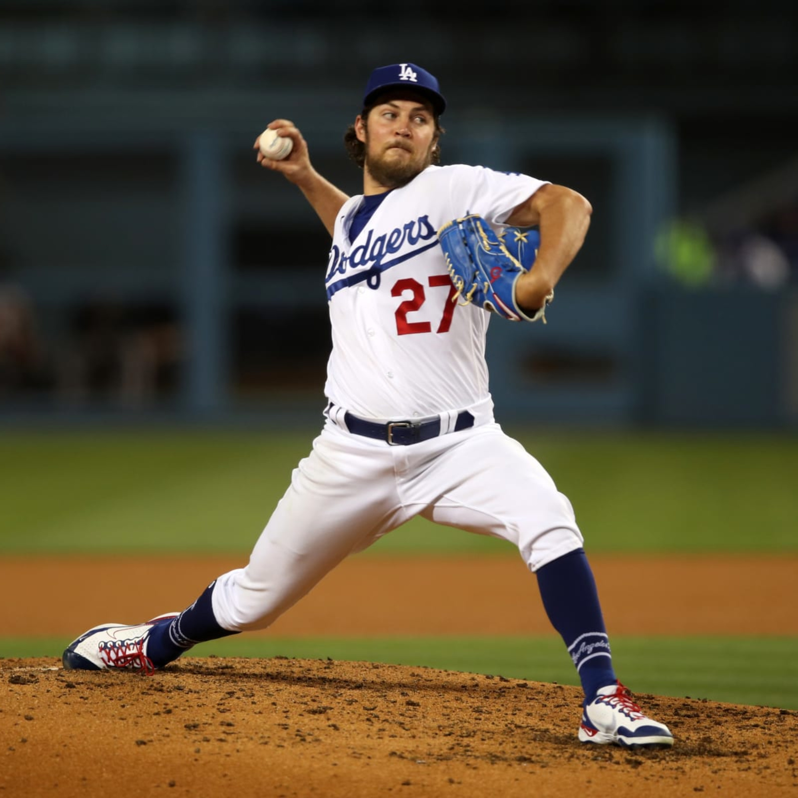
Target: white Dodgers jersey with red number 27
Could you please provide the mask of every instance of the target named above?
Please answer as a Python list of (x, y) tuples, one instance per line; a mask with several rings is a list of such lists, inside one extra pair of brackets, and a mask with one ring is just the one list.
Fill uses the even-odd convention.
[(377, 207), (354, 241), (354, 196), (335, 223), (326, 276), (333, 350), (326, 395), (368, 419), (430, 417), (488, 399), (489, 315), (452, 302), (437, 231), (477, 213), (498, 228), (543, 181), (430, 166)]

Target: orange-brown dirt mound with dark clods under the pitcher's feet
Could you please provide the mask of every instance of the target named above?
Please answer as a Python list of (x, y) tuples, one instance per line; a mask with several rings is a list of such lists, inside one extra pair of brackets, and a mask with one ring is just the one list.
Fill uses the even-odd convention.
[(0, 660), (5, 796), (798, 796), (798, 713), (651, 695), (670, 750), (581, 745), (580, 691), (427, 668)]

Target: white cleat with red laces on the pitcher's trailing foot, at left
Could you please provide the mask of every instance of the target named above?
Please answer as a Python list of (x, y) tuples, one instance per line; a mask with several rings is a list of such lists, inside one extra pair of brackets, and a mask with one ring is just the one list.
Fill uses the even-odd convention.
[(61, 662), (65, 670), (140, 670), (154, 674), (156, 666), (147, 656), (147, 640), (156, 623), (168, 623), (180, 613), (172, 612), (157, 618), (126, 626), (102, 623), (81, 634), (66, 647)]

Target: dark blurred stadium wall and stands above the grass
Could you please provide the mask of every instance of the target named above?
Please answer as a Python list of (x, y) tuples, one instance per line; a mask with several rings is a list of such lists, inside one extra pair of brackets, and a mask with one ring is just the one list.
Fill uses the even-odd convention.
[(501, 417), (794, 429), (791, 8), (0, 0), (0, 416), (318, 421), (327, 236), (251, 145), (288, 117), (357, 192), (342, 132), (409, 60), (444, 163), (595, 208), (551, 324), (492, 325)]

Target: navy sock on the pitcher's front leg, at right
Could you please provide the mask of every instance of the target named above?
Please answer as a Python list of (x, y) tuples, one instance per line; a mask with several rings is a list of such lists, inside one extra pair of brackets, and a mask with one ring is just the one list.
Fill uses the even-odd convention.
[(617, 681), (612, 667), (599, 592), (584, 549), (571, 551), (536, 571), (551, 625), (568, 646), (588, 701)]

